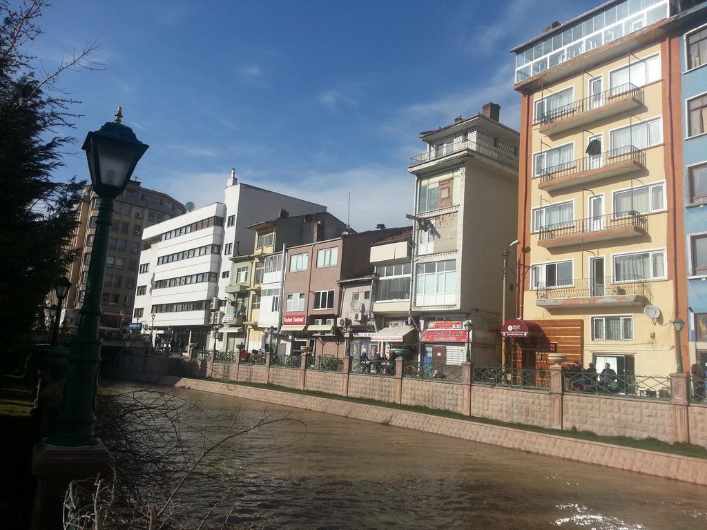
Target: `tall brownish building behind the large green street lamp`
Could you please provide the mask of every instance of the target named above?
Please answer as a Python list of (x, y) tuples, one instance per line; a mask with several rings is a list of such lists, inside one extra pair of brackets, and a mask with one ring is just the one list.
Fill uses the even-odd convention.
[[(66, 315), (62, 318), (66, 325), (76, 325), (78, 310), (83, 305), (99, 204), (100, 198), (93, 187), (87, 186), (76, 209), (79, 225), (71, 242), (71, 247), (80, 252), (69, 269), (71, 289), (65, 301)], [(135, 180), (129, 181), (125, 191), (117, 196), (108, 240), (101, 326), (117, 329), (121, 321), (131, 320), (143, 230), (185, 212), (185, 206), (179, 201), (146, 189)]]

